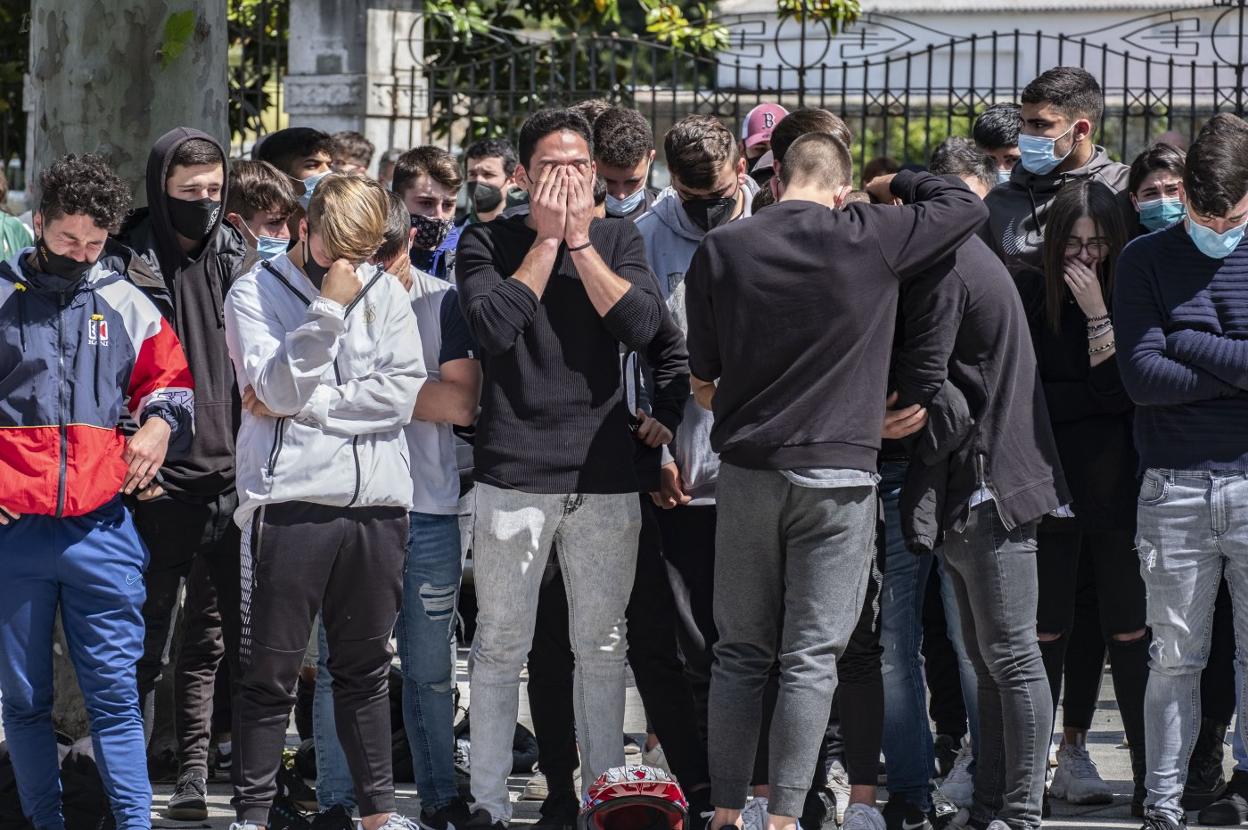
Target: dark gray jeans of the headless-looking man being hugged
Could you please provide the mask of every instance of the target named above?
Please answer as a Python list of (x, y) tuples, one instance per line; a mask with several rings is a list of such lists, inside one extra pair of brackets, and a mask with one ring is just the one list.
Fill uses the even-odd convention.
[(1038, 828), (1053, 699), (1036, 638), (1036, 524), (1006, 530), (996, 503), (985, 502), (941, 550), (978, 686), (971, 818)]

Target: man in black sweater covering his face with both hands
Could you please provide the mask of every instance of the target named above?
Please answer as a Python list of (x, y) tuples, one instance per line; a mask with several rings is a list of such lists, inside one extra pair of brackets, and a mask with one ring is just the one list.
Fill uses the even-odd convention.
[(659, 330), (631, 222), (592, 221), (593, 140), (575, 112), (520, 130), (528, 215), (469, 226), (457, 275), (482, 348), (473, 578), (473, 824), (510, 820), (507, 776), (519, 678), (552, 543), (570, 600), (582, 780), (624, 763), (624, 610), (640, 505), (620, 344)]

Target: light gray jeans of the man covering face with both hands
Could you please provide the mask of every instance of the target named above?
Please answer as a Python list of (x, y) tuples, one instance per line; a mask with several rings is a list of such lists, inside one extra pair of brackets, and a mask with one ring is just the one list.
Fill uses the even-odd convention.
[(584, 785), (624, 764), (624, 609), (633, 590), (641, 510), (636, 493), (542, 494), (475, 487), (470, 658), (474, 810), (510, 821), (507, 776), (520, 669), (533, 644), (552, 543), (568, 592), (577, 738)]

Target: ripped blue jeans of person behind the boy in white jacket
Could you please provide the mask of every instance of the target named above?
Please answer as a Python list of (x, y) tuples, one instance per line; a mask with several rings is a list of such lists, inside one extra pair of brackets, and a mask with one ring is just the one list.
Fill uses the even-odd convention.
[[(409, 513), (403, 563), (398, 655), (403, 668), (403, 725), (421, 809), (437, 810), (458, 798), (454, 776), (454, 630), (463, 562), (456, 515)], [(333, 725), (328, 648), (321, 633), (314, 713), (317, 801), (322, 810), (354, 804), (351, 774)]]

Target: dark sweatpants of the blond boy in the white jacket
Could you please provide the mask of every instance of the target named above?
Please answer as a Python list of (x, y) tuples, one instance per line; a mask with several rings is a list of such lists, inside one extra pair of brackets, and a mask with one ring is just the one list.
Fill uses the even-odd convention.
[(266, 825), (286, 724), (317, 612), (329, 640), (333, 713), (361, 815), (394, 810), (389, 638), (403, 594), (402, 508), (287, 502), (243, 530), (242, 648), (233, 719), (233, 806)]

